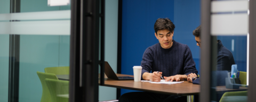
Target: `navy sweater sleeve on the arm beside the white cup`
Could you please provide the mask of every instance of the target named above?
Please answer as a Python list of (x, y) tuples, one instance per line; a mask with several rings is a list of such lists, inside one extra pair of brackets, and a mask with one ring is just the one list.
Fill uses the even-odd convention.
[(141, 80), (143, 80), (142, 75), (145, 72), (150, 72), (152, 70), (151, 65), (153, 63), (153, 52), (150, 48), (147, 48), (143, 54), (142, 61), (141, 61), (141, 66), (142, 66), (142, 71), (141, 71)]

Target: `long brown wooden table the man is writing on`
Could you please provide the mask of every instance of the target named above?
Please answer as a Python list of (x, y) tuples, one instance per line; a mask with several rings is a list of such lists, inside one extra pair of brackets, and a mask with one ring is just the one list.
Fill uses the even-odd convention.
[[(125, 74), (116, 74), (118, 77), (133, 77), (133, 75)], [(57, 75), (60, 80), (69, 80), (69, 75)], [(99, 76), (100, 83), (100, 76)], [(191, 96), (198, 95), (200, 92), (200, 85), (193, 84), (188, 81), (177, 84), (156, 84), (149, 82), (134, 82), (133, 80), (113, 80), (107, 78), (105, 75), (105, 84), (106, 87), (122, 88), (122, 89), (131, 89), (131, 90), (140, 90), (140, 91), (149, 91), (159, 94), (166, 95), (180, 95), (180, 96)], [(216, 91), (243, 91), (247, 90), (247, 87), (239, 87), (239, 89), (227, 89), (226, 86), (217, 86), (215, 87)]]

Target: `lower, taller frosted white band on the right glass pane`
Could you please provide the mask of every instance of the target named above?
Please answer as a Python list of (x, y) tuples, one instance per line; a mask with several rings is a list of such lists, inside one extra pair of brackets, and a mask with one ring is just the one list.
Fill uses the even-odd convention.
[(211, 35), (247, 35), (248, 14), (212, 14)]

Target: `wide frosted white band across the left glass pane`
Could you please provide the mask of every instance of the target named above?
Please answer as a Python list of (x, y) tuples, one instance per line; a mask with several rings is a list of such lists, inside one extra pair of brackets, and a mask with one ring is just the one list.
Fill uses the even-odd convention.
[(65, 10), (0, 14), (0, 34), (70, 35), (70, 13)]

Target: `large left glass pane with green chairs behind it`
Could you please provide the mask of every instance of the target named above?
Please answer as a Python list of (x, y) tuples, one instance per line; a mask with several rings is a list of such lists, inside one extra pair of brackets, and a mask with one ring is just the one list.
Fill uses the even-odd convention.
[(0, 5), (0, 101), (68, 101), (70, 5), (42, 0)]

